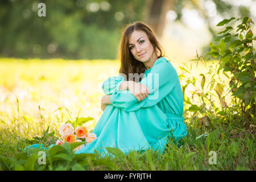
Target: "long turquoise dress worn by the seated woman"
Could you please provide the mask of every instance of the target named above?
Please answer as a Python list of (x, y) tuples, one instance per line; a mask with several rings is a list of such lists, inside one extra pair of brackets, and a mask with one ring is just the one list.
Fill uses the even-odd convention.
[(92, 143), (76, 154), (107, 153), (105, 147), (117, 147), (125, 154), (148, 148), (162, 153), (167, 140), (178, 142), (187, 135), (183, 117), (183, 93), (175, 68), (164, 57), (145, 69), (140, 83), (146, 84), (148, 97), (139, 102), (130, 90), (119, 90), (122, 76), (110, 77), (102, 84), (104, 93), (110, 94), (107, 105), (92, 133)]

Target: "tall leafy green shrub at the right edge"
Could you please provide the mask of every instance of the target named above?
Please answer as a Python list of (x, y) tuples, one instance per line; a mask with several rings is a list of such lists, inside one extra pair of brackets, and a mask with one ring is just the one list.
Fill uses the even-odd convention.
[[(231, 23), (238, 24), (236, 28), (230, 26)], [(256, 78), (255, 67), (256, 60), (254, 56), (253, 41), (256, 37), (251, 31), (251, 24), (254, 24), (250, 18), (230, 18), (224, 19), (217, 26), (225, 26), (222, 34), (216, 38), (218, 44), (210, 43), (210, 51), (208, 59), (218, 59), (218, 72), (223, 69), (224, 72), (230, 72), (229, 86), (233, 96), (241, 102), (241, 110), (245, 118), (251, 119), (255, 116), (256, 103)], [(234, 33), (232, 33), (232, 31)]]

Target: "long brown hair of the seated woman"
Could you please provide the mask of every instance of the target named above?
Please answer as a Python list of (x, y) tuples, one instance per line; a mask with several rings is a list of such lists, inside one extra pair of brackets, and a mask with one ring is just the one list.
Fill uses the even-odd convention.
[[(152, 31), (152, 29), (147, 24), (142, 22), (134, 22), (132, 24), (128, 24), (126, 27), (123, 28), (118, 52), (118, 58), (121, 60), (121, 67), (119, 69), (119, 73), (122, 73), (122, 75), (124, 74), (126, 76), (126, 80), (129, 80), (129, 73), (138, 73), (138, 75), (141, 75), (141, 73), (144, 73), (145, 68), (144, 64), (141, 61), (138, 61), (134, 58), (128, 46), (131, 33), (134, 30), (142, 30), (146, 32), (150, 43), (154, 47), (154, 52), (156, 52), (156, 55), (158, 55), (159, 53), (158, 58), (163, 57), (164, 55), (163, 47), (156, 39), (154, 31)], [(135, 78), (133, 78), (133, 81), (141, 81), (142, 77), (139, 77), (139, 79), (134, 79)]]

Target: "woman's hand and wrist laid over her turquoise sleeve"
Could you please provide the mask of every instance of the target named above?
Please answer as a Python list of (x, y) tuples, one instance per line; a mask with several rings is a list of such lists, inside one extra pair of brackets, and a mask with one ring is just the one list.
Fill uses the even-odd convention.
[(149, 94), (148, 88), (145, 84), (140, 84), (135, 81), (129, 81), (128, 89), (139, 102), (141, 102)]

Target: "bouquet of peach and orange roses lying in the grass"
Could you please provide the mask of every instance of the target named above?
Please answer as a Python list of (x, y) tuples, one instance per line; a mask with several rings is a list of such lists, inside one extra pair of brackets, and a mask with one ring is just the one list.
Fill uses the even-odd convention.
[[(86, 144), (89, 144), (97, 138), (96, 134), (89, 133), (89, 130), (86, 126), (77, 126), (74, 130), (73, 126), (69, 123), (61, 125), (59, 132), (62, 140), (57, 140), (56, 145), (61, 145), (64, 142), (68, 142), (69, 144), (75, 142), (82, 142), (83, 140), (85, 140)], [(77, 151), (84, 146), (85, 144), (82, 144), (79, 147), (76, 147), (74, 151)]]

